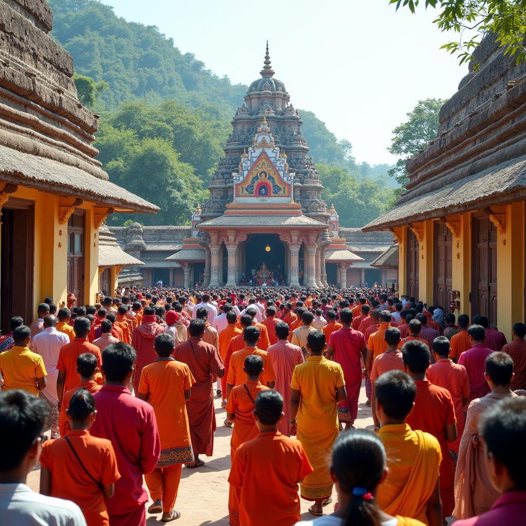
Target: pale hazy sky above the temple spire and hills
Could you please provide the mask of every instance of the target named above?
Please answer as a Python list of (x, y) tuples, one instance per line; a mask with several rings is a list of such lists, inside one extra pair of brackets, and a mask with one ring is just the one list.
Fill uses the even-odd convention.
[(439, 49), (454, 37), (432, 24), (434, 9), (396, 13), (388, 0), (103, 2), (128, 21), (157, 26), (234, 83), (260, 78), (268, 39), (290, 102), (314, 112), (370, 164), (395, 161), (386, 150), (392, 129), (418, 100), (450, 97), (467, 72)]

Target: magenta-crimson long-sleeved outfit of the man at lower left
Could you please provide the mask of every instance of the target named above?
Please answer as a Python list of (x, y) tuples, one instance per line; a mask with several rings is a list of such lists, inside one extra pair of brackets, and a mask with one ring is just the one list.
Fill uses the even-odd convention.
[(153, 407), (123, 386), (103, 386), (93, 395), (97, 418), (89, 432), (112, 442), (120, 479), (115, 495), (106, 499), (109, 515), (129, 513), (148, 502), (143, 474), (159, 459), (160, 441)]

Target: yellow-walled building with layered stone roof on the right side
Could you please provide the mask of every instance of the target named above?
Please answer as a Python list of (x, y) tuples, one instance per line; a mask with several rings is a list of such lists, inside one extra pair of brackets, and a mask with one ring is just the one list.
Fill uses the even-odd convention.
[(439, 135), (406, 165), (395, 208), (363, 230), (398, 239), (400, 292), (487, 316), (511, 338), (524, 319), (526, 65), (493, 35), (474, 51)]

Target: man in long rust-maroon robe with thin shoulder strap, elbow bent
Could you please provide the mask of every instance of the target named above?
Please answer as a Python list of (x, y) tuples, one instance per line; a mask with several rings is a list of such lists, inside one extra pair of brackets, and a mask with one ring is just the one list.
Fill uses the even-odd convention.
[(225, 366), (218, 350), (210, 343), (203, 341), (205, 320), (194, 319), (189, 325), (190, 338), (179, 343), (174, 357), (186, 363), (196, 383), (191, 388), (191, 397), (186, 404), (190, 439), (195, 462), (187, 467), (197, 468), (204, 465), (200, 454), (211, 457), (214, 451), (214, 431), (216, 414), (214, 411), (214, 377), (222, 378)]

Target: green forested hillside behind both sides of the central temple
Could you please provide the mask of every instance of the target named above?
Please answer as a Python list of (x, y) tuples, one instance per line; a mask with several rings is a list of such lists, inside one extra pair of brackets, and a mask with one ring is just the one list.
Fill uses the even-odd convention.
[[(188, 224), (206, 190), (247, 86), (182, 54), (155, 26), (127, 22), (95, 0), (48, 0), (52, 36), (72, 54), (79, 98), (100, 115), (95, 146), (110, 180), (155, 203), (153, 216), (115, 214), (113, 225)], [(247, 79), (250, 80), (250, 79)], [(315, 114), (299, 109), (303, 134), (340, 225), (360, 227), (392, 203), (389, 165), (357, 163)]]

